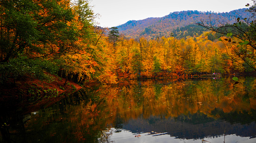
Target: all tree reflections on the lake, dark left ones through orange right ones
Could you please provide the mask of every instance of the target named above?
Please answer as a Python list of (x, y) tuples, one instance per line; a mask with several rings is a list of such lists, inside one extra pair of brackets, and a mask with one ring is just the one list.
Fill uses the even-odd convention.
[[(250, 90), (256, 90), (254, 78), (240, 77), (239, 80), (244, 85), (251, 85), (247, 86)], [(255, 120), (255, 95), (242, 84), (233, 86), (232, 83), (231, 78), (222, 78), (182, 82), (131, 80), (112, 86), (94, 86), (64, 97), (50, 108), (32, 115), (25, 128), (31, 136), (36, 130), (46, 137), (45, 141), (57, 138), (65, 143), (93, 142), (106, 136), (100, 131), (110, 127), (119, 131), (131, 120), (141, 118), (148, 120), (149, 124), (158, 117), (191, 124), (219, 118), (231, 123), (249, 124)], [(177, 129), (180, 124), (175, 124)], [(214, 126), (215, 123), (207, 124)], [(144, 128), (149, 129), (147, 126)]]

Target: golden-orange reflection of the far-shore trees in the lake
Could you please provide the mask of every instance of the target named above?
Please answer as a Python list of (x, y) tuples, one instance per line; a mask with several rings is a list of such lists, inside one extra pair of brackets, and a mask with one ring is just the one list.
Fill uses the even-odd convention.
[[(248, 82), (244, 78), (240, 81)], [(102, 90), (106, 88), (109, 89), (105, 87)], [(150, 115), (177, 117), (197, 112), (212, 117), (211, 111), (216, 108), (224, 113), (256, 109), (253, 92), (248, 92), (241, 84), (233, 86), (231, 79), (188, 80), (168, 85), (152, 85), (152, 81), (144, 81), (115, 90), (118, 90), (115, 96), (102, 95), (107, 96), (106, 106), (110, 107), (104, 109), (108, 110), (104, 113), (116, 112), (124, 120), (139, 115), (144, 118)]]

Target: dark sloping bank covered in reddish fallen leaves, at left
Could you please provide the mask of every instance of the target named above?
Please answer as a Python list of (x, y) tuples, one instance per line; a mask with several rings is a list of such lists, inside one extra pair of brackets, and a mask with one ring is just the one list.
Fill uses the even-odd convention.
[[(0, 86), (0, 106), (11, 107), (54, 103), (62, 98), (63, 93), (75, 92), (82, 87), (71, 80), (52, 75), (53, 80), (25, 78)], [(66, 84), (65, 84), (66, 82)]]

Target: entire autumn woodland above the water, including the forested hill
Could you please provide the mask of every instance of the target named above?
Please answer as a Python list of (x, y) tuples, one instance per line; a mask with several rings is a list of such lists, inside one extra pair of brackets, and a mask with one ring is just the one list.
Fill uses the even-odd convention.
[[(53, 74), (80, 83), (115, 83), (178, 73), (253, 72), (255, 21), (248, 20), (254, 19), (255, 5), (248, 6), (251, 11), (236, 11), (241, 20), (231, 16), (235, 11), (181, 11), (106, 29), (95, 26), (98, 14), (87, 0), (1, 0), (0, 83), (54, 80)], [(222, 31), (210, 31), (205, 21), (189, 25), (209, 18), (212, 28), (217, 21), (231, 25)]]

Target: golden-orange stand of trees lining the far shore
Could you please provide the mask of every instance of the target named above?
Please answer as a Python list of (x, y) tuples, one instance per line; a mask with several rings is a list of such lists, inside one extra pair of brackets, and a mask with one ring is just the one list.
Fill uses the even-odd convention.
[[(121, 38), (116, 46), (116, 62), (122, 72), (136, 76), (154, 77), (158, 73), (233, 73), (253, 71), (236, 55), (237, 47), (229, 47), (225, 37), (209, 40), (214, 32), (205, 32), (196, 38), (178, 40), (173, 37), (147, 41)], [(246, 47), (255, 57), (255, 49)], [(248, 54), (248, 55), (249, 55)]]

